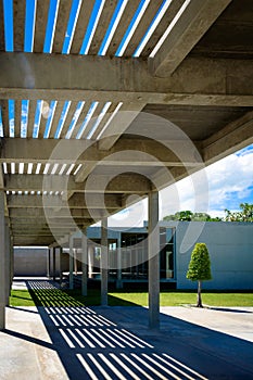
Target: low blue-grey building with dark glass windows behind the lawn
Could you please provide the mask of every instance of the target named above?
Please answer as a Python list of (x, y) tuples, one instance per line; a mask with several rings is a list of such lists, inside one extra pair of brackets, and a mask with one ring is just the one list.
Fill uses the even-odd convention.
[[(87, 228), (88, 278), (100, 279), (100, 228)], [(80, 238), (75, 235), (74, 270), (80, 271)], [(253, 224), (224, 221), (161, 221), (161, 288), (192, 289), (186, 278), (195, 242), (205, 242), (211, 256), (211, 281), (206, 289), (253, 289)], [(127, 283), (148, 282), (148, 229), (111, 228), (109, 230), (109, 280), (121, 288)], [(48, 249), (15, 249), (15, 276), (60, 276), (68, 273), (68, 250), (54, 257)]]

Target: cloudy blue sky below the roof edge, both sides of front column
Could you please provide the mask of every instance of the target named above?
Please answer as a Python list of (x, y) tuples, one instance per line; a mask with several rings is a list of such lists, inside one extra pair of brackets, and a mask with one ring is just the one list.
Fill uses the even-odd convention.
[[(160, 192), (160, 218), (182, 210), (223, 217), (225, 208), (237, 211), (240, 203), (253, 203), (253, 144), (210, 165), (205, 174), (208, 191), (203, 191), (203, 202), (197, 202), (192, 177), (185, 178)], [(111, 217), (110, 225), (142, 226), (147, 218), (148, 202), (142, 201)]]

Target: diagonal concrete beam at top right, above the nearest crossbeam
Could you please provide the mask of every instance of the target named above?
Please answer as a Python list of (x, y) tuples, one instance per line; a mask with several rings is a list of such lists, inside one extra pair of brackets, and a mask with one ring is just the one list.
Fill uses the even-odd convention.
[[(172, 5), (180, 1), (174, 1)], [(197, 42), (204, 36), (231, 0), (191, 0), (177, 10), (168, 22), (166, 38), (149, 61), (151, 73), (159, 77), (172, 75)], [(175, 7), (175, 5), (174, 5)], [(170, 7), (169, 7), (170, 11)], [(172, 12), (170, 12), (172, 14)]]

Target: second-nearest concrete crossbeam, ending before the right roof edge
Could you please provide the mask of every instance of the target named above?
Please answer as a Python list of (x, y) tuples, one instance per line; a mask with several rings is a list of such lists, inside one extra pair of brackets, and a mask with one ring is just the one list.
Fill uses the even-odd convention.
[[(170, 134), (172, 135), (172, 134)], [(85, 164), (100, 166), (192, 166), (198, 161), (192, 154), (184, 163), (173, 152), (180, 151), (185, 141), (174, 140), (169, 136), (168, 141), (154, 141), (144, 139), (124, 138), (118, 140), (110, 151), (101, 151), (99, 142), (91, 144), (90, 140), (58, 140), (53, 139), (4, 139), (0, 162), (5, 163), (59, 163), (59, 164)], [(56, 141), (56, 143), (55, 143)], [(56, 147), (58, 145), (58, 147)], [(64, 152), (64, 154), (63, 154)], [(79, 152), (76, 157), (76, 152)], [(146, 155), (140, 154), (146, 153)], [(121, 160), (119, 160), (121, 154)], [(90, 173), (90, 172), (89, 172)], [(88, 174), (89, 174), (88, 173)], [(64, 176), (59, 176), (63, 177)], [(72, 176), (69, 178), (69, 186)], [(59, 178), (59, 181), (63, 179)], [(83, 181), (76, 176), (76, 181)]]

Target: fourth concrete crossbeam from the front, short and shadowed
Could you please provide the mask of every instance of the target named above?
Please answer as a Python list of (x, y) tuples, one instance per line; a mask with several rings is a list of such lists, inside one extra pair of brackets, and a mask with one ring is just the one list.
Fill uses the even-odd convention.
[[(68, 202), (64, 202), (60, 197), (48, 195), (48, 199), (43, 202), (41, 195), (8, 195), (8, 207), (14, 208), (97, 208), (103, 210), (118, 210), (122, 207), (122, 201), (119, 195), (112, 194), (92, 194), (87, 204), (83, 194), (74, 194)], [(51, 215), (51, 214), (50, 214)]]

